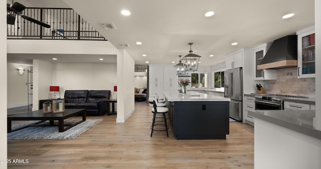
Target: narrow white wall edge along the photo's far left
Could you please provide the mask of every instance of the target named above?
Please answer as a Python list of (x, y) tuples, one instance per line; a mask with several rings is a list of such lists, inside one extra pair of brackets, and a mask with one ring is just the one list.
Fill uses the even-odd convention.
[[(0, 79), (5, 79), (0, 93), (7, 96), (7, 5), (6, 1), (0, 3)], [(7, 159), (7, 97), (0, 98), (0, 159)], [(7, 168), (6, 163), (0, 163), (0, 168)]]

